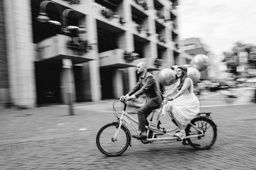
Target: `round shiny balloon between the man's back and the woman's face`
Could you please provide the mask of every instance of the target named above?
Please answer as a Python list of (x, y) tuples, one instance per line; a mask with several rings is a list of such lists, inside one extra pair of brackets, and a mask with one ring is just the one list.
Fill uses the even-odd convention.
[(158, 74), (158, 81), (164, 86), (170, 86), (175, 82), (176, 74), (171, 68), (164, 68)]

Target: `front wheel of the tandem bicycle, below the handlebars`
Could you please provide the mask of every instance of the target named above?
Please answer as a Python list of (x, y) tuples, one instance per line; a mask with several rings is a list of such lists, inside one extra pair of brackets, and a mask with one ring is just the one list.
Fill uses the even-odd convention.
[(119, 123), (110, 123), (103, 126), (97, 136), (96, 144), (102, 154), (107, 156), (117, 156), (123, 154), (131, 142), (131, 134), (129, 130), (122, 125), (117, 139), (113, 139), (114, 134), (117, 132)]

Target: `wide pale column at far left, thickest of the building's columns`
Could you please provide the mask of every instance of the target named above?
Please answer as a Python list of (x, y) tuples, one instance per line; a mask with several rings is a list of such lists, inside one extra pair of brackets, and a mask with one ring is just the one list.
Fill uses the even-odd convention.
[(30, 4), (30, 0), (4, 1), (10, 101), (25, 108), (34, 107), (36, 103)]

